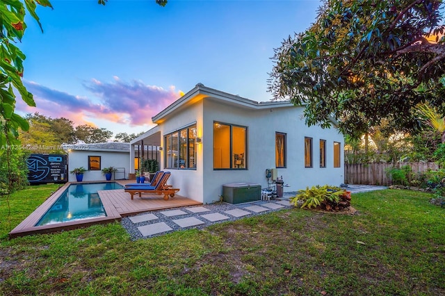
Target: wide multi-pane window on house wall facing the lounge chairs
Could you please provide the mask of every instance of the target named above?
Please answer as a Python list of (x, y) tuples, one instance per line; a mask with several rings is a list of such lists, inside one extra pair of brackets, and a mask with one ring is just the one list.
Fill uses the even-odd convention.
[(195, 169), (195, 140), (196, 125), (165, 135), (164, 167), (169, 169)]

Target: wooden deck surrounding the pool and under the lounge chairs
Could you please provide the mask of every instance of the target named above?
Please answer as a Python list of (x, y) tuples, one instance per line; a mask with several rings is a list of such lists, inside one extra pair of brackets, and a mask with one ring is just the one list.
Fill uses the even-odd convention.
[[(125, 183), (133, 183), (134, 180), (122, 180), (116, 181), (121, 185)], [(175, 197), (169, 200), (164, 200), (163, 195), (143, 195), (142, 197), (135, 197), (131, 199), (130, 194), (124, 192), (123, 189), (116, 190), (99, 190), (99, 197), (104, 205), (106, 217), (97, 217), (87, 220), (79, 220), (72, 222), (63, 222), (57, 224), (49, 224), (43, 226), (35, 226), (48, 211), (48, 209), (56, 202), (58, 197), (70, 186), (70, 183), (62, 186), (54, 195), (51, 195), (46, 201), (43, 202), (31, 215), (26, 217), (13, 231), (9, 233), (10, 238), (16, 238), (19, 236), (27, 236), (35, 233), (51, 233), (61, 230), (70, 230), (81, 227), (88, 227), (93, 224), (104, 224), (114, 221), (120, 221), (122, 217), (129, 215), (135, 215), (137, 213), (143, 213), (147, 211), (156, 211), (165, 208), (177, 208), (180, 206), (195, 206), (202, 204), (196, 202), (193, 199), (182, 197), (181, 195), (175, 195)]]

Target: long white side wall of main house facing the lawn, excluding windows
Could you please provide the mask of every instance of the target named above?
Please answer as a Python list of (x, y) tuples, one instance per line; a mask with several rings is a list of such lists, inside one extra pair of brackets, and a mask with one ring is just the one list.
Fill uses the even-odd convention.
[[(275, 132), (286, 133), (286, 168), (277, 169), (282, 176), (285, 192), (296, 191), (306, 186), (330, 184), (339, 186), (344, 181), (343, 153), (340, 167), (334, 167), (334, 142), (341, 143), (343, 135), (337, 129), (321, 129), (306, 126), (302, 107), (267, 108), (249, 110), (203, 101), (202, 147), (202, 190), (204, 204), (215, 202), (222, 195), (225, 183), (259, 183), (267, 188), (266, 169), (275, 168)], [(213, 170), (213, 122), (247, 126), (247, 170)], [(312, 163), (305, 167), (305, 137), (313, 139)], [(326, 140), (326, 167), (320, 167), (319, 142)], [(204, 167), (202, 167), (204, 163)]]

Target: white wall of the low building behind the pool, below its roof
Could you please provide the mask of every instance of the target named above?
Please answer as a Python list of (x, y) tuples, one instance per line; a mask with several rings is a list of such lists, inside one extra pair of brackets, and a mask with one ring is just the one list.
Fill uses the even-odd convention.
[[(128, 179), (130, 171), (130, 153), (129, 151), (92, 151), (92, 150), (71, 150), (68, 153), (68, 172), (76, 167), (85, 167), (88, 170), (88, 156), (101, 156), (101, 170), (87, 171), (83, 174), (83, 181), (105, 181), (102, 174), (104, 167), (124, 167), (125, 176), (118, 174), (118, 179)], [(121, 177), (122, 176), (122, 177)], [(113, 174), (114, 177), (114, 174)], [(112, 178), (113, 179), (113, 178)], [(76, 175), (70, 174), (69, 182), (76, 181)]]

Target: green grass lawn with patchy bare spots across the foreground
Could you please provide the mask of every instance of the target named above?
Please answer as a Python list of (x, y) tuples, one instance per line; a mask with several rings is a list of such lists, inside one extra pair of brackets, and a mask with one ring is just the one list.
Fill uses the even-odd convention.
[(356, 215), (277, 211), (131, 241), (119, 223), (8, 240), (57, 186), (0, 199), (0, 295), (445, 295), (445, 208), (353, 194)]

